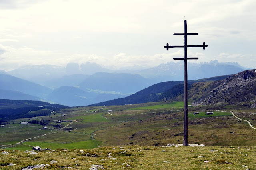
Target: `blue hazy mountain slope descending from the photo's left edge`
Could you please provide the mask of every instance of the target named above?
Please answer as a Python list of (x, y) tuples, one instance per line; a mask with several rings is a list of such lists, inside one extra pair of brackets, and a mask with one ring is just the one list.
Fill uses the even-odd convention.
[[(40, 98), (43, 98), (46, 94), (51, 92), (47, 87), (7, 74), (0, 74), (0, 89), (18, 91)], [(2, 96), (0, 96), (0, 98), (2, 98)]]

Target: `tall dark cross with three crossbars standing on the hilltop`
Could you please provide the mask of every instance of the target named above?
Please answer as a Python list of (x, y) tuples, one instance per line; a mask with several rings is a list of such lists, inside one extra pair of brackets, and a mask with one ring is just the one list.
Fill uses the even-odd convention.
[(173, 58), (174, 60), (184, 60), (184, 138), (183, 138), (183, 146), (188, 146), (188, 60), (190, 59), (198, 59), (197, 57), (188, 58), (187, 57), (187, 48), (188, 47), (208, 47), (205, 45), (187, 45), (187, 36), (188, 35), (198, 35), (198, 33), (187, 33), (187, 21), (184, 21), (184, 33), (174, 33), (173, 35), (184, 35), (184, 46), (169, 46), (167, 43), (164, 48), (169, 50), (169, 48), (184, 48), (184, 58)]

